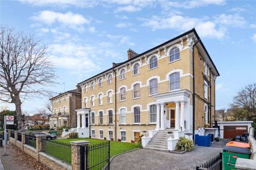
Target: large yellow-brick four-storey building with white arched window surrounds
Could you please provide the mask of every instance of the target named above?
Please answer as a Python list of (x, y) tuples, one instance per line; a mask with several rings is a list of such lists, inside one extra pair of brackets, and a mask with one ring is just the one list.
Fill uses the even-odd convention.
[(196, 134), (212, 122), (219, 73), (195, 29), (77, 84), (80, 137), (136, 141), (151, 130)]

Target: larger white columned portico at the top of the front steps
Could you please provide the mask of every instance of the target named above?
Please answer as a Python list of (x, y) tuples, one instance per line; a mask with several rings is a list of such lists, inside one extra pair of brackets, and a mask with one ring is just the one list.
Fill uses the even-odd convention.
[(177, 90), (155, 95), (156, 99), (156, 130), (164, 130), (170, 127), (171, 116), (167, 112), (167, 105), (172, 103), (175, 117), (175, 130), (191, 132), (192, 106), (190, 105), (188, 90)]

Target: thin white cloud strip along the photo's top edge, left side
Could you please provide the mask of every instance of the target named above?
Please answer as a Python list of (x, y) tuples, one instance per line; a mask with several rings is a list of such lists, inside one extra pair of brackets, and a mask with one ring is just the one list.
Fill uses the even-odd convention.
[(57, 7), (94, 7), (98, 1), (81, 1), (81, 0), (19, 0), (32, 6), (57, 6)]

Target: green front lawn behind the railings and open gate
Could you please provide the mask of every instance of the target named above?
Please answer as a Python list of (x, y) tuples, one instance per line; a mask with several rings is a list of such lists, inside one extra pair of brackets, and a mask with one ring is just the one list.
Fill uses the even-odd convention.
[[(55, 158), (59, 158), (66, 163), (71, 164), (71, 141), (90, 141), (90, 149), (92, 151), (89, 152), (89, 166), (92, 167), (94, 164), (98, 164), (106, 158), (108, 158), (108, 152), (106, 152), (106, 147), (103, 147), (102, 150), (93, 150), (95, 147), (99, 147), (102, 143), (106, 143), (106, 140), (101, 139), (91, 139), (91, 138), (76, 138), (76, 139), (54, 139), (51, 141), (47, 141), (44, 152), (47, 154), (54, 156)], [(114, 155), (120, 154), (125, 151), (133, 150), (134, 148), (139, 147), (134, 143), (126, 143), (126, 142), (117, 142), (110, 141), (110, 158)], [(93, 167), (92, 169), (103, 168), (106, 162), (100, 163), (97, 167)]]

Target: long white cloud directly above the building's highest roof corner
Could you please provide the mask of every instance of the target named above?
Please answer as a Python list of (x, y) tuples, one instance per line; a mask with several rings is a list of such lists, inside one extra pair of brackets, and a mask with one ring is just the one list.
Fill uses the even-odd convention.
[(151, 19), (142, 19), (145, 27), (150, 27), (153, 31), (156, 29), (177, 29), (180, 31), (188, 31), (196, 27), (199, 35), (202, 37), (212, 37), (222, 39), (225, 36), (225, 28), (217, 28), (214, 22), (205, 21), (204, 19), (189, 18), (181, 15), (170, 16), (169, 18), (160, 18), (152, 16)]

